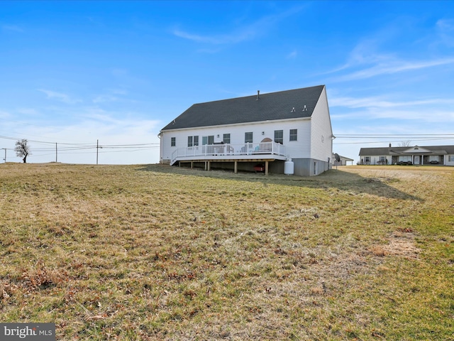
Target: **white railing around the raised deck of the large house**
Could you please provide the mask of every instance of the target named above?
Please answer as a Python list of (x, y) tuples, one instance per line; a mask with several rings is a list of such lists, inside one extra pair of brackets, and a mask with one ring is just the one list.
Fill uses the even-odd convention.
[(285, 156), (285, 147), (276, 142), (260, 142), (248, 144), (207, 144), (204, 146), (179, 147), (172, 153), (172, 163), (177, 158), (206, 157), (206, 156), (234, 156), (271, 154)]

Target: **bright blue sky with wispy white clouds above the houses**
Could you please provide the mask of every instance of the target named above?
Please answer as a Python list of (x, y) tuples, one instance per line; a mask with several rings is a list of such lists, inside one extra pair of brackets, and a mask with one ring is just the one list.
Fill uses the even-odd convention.
[(454, 144), (454, 1), (0, 1), (7, 161), (157, 163), (194, 103), (314, 85), (343, 156)]

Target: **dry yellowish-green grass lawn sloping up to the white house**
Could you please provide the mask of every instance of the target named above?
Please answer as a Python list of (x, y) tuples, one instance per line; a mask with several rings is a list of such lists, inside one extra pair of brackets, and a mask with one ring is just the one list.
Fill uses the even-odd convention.
[(0, 165), (0, 321), (57, 340), (454, 340), (454, 168)]

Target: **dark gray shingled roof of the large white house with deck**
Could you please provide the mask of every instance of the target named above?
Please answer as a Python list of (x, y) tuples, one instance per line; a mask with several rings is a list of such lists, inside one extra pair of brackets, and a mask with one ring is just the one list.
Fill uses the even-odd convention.
[[(311, 117), (324, 85), (194, 104), (162, 130)], [(306, 111), (303, 111), (306, 105)], [(292, 109), (294, 108), (294, 112)]]

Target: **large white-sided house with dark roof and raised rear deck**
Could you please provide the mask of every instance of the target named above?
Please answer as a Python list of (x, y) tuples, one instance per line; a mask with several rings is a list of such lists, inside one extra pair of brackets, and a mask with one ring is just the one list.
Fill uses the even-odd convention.
[(334, 138), (324, 85), (194, 104), (159, 136), (160, 163), (295, 175), (327, 171)]

